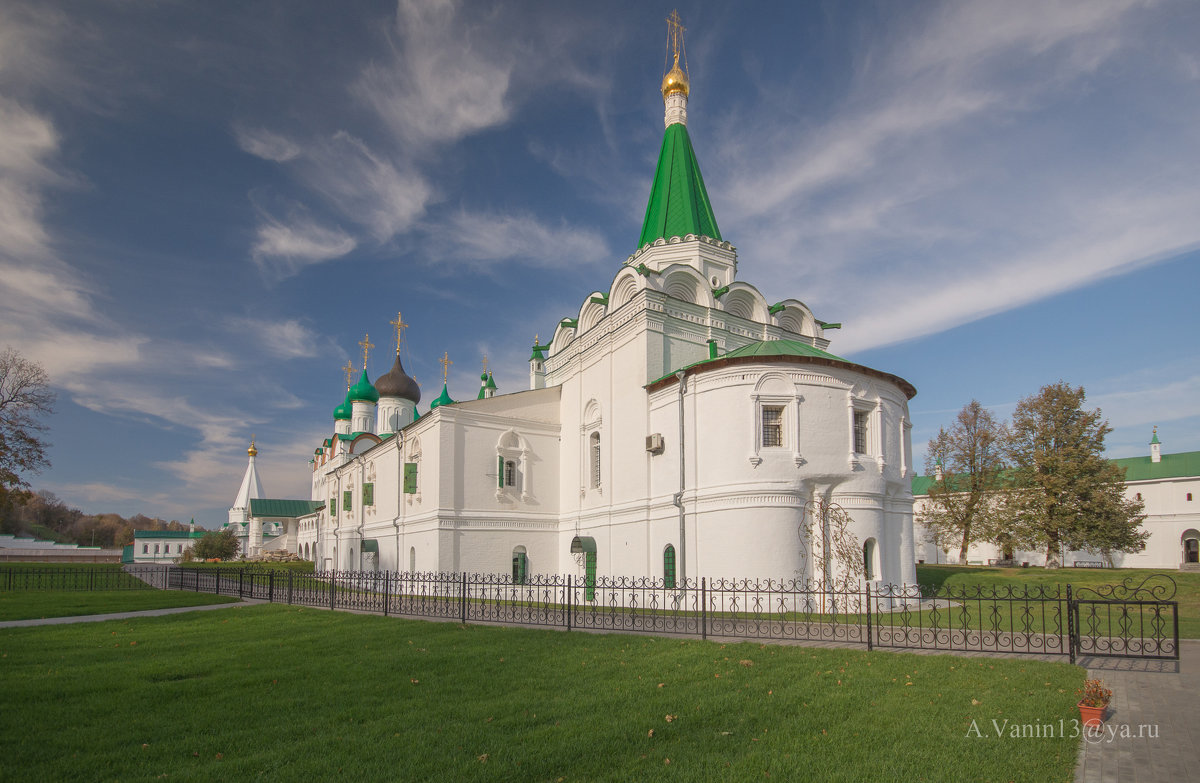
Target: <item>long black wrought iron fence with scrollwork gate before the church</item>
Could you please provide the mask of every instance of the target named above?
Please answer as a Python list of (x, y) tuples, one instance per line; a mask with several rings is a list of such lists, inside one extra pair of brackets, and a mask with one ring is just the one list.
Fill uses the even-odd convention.
[(944, 650), (1177, 659), (1175, 581), (883, 585), (448, 572), (318, 572), (130, 566), (4, 569), (0, 588), (161, 587), (275, 603), (594, 630)]

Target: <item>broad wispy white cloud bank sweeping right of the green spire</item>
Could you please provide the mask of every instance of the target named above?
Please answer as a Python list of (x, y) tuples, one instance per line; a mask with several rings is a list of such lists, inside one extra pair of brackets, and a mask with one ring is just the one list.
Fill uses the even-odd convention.
[[(1183, 136), (1142, 143), (1135, 125), (1063, 109), (1100, 68), (1157, 67), (1136, 24), (1150, 5), (925, 7), (857, 53), (847, 92), (802, 132), (788, 112), (738, 115), (714, 198), (755, 282), (845, 322), (836, 345), (852, 352), (1195, 247), (1200, 168), (1170, 151)], [(1194, 90), (1178, 95), (1171, 110), (1200, 121)]]

